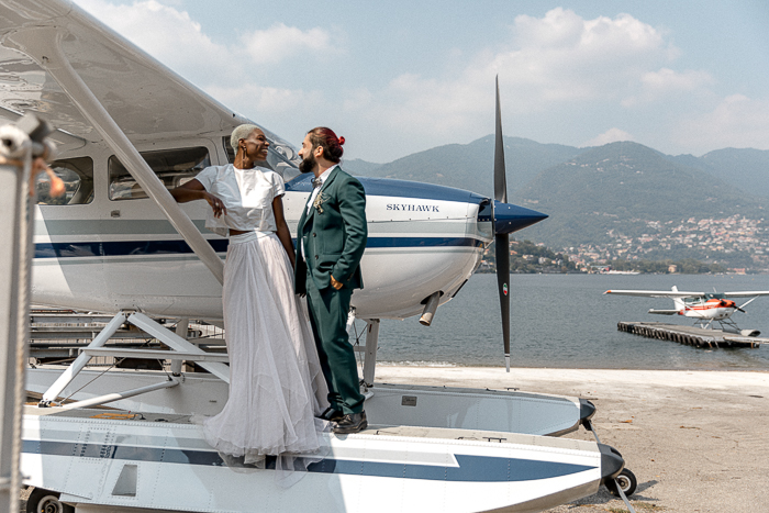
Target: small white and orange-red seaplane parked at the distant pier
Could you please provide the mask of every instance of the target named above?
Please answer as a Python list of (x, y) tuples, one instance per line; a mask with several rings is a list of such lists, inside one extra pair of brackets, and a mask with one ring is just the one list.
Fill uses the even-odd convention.
[[(721, 330), (727, 333), (736, 333), (742, 336), (758, 336), (758, 330), (740, 330), (732, 320), (735, 312), (745, 313), (745, 306), (757, 300), (761, 295), (769, 295), (768, 290), (744, 291), (744, 292), (686, 292), (678, 290), (673, 286), (671, 290), (608, 290), (604, 294), (615, 295), (639, 295), (645, 298), (667, 298), (671, 299), (675, 309), (658, 310), (649, 309), (648, 313), (657, 315), (683, 315), (694, 319), (694, 323), (700, 327), (709, 328), (713, 322), (718, 323)], [(751, 298), (742, 305), (731, 298)]]

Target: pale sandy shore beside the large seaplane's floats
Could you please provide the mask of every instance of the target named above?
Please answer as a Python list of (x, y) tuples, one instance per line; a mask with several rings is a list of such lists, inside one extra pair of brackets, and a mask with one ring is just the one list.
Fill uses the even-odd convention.
[[(755, 511), (769, 472), (769, 370), (378, 366), (376, 382), (516, 388), (588, 399), (637, 480), (636, 511)], [(376, 393), (376, 384), (375, 384)], [(567, 438), (592, 440), (583, 428)], [(548, 513), (627, 511), (603, 487)]]

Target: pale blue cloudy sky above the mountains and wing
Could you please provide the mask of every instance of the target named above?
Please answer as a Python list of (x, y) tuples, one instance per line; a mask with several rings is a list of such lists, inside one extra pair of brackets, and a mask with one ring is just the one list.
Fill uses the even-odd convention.
[(493, 133), (769, 149), (766, 0), (75, 0), (294, 146), (389, 163)]

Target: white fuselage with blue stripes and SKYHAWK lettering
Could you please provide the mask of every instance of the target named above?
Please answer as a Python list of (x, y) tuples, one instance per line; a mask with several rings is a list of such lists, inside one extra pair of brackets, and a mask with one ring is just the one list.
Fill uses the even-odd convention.
[[(197, 148), (205, 164), (226, 163), (219, 134), (211, 138), (136, 143), (140, 152)], [(201, 149), (202, 148), (202, 149)], [(89, 311), (137, 310), (160, 316), (222, 319), (221, 286), (189, 249), (159, 208), (118, 176), (105, 145), (68, 152), (92, 160), (92, 199), (81, 204), (36, 207), (33, 302)], [(146, 157), (145, 157), (146, 158)], [(344, 163), (342, 164), (344, 167)], [(296, 172), (296, 170), (294, 170)], [(187, 178), (194, 174), (190, 172)], [(164, 181), (176, 185), (175, 177)], [(296, 236), (311, 192), (309, 176), (287, 177), (286, 219)], [(369, 238), (361, 261), (365, 288), (353, 305), (361, 319), (403, 319), (422, 312), (423, 301), (442, 292), (448, 301), (480, 264), (492, 239), (481, 216), (483, 197), (459, 189), (360, 178)], [(126, 185), (127, 183), (127, 185)], [(226, 238), (204, 228), (208, 203), (182, 205), (216, 253)]]

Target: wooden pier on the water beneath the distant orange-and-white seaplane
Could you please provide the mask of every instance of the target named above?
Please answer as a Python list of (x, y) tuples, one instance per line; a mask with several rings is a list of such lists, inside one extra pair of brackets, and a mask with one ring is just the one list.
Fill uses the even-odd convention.
[(688, 346), (715, 347), (749, 347), (757, 348), (769, 344), (769, 338), (742, 336), (722, 330), (710, 330), (696, 326), (682, 326), (661, 322), (618, 322), (616, 328), (621, 332), (658, 338), (660, 341), (678, 342)]

